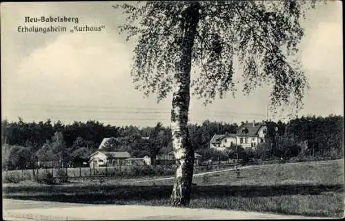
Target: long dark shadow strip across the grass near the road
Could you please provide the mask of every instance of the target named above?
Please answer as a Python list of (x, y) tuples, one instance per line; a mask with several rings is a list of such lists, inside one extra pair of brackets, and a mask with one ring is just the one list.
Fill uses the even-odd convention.
[[(343, 185), (212, 185), (193, 186), (193, 198), (215, 197), (265, 197), (282, 195), (319, 195), (324, 192), (340, 192)], [(77, 202), (92, 204), (129, 204), (130, 202), (168, 202), (172, 186), (123, 186), (92, 185), (78, 186), (42, 186), (42, 187), (6, 187), (4, 198), (19, 200), (40, 200), (55, 202)]]

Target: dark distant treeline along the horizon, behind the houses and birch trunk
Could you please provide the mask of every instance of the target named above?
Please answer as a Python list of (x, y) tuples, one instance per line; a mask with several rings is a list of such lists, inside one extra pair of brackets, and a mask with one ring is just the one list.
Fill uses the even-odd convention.
[[(277, 123), (267, 123), (268, 145), (259, 148), (261, 154), (255, 154), (258, 158), (278, 157), (287, 152), (290, 153), (288, 156), (291, 156), (289, 149), (304, 141), (308, 143), (309, 154), (314, 156), (344, 156), (343, 116), (302, 116), (290, 120), (287, 124), (280, 120)], [(236, 123), (209, 120), (205, 120), (201, 125), (190, 124), (190, 141), (201, 155), (212, 156), (206, 151), (213, 135), (236, 133), (238, 127)], [(274, 127), (278, 128), (277, 133)], [(155, 127), (139, 128), (132, 125), (103, 125), (93, 120), (70, 125), (63, 125), (60, 121), (52, 123), (50, 120), (26, 123), (19, 118), (18, 122), (1, 122), (3, 166), (26, 167), (37, 160), (60, 160), (67, 164), (76, 156), (86, 158), (99, 147), (103, 138), (107, 137), (120, 138), (112, 151), (128, 151), (133, 157), (148, 155), (155, 158), (158, 154), (172, 151), (170, 127), (163, 127), (161, 123), (157, 123)], [(272, 147), (275, 147), (275, 150)]]

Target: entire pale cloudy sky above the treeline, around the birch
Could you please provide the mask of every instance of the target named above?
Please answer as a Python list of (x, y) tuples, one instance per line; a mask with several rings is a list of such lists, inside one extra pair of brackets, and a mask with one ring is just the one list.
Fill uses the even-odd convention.
[[(170, 123), (171, 97), (157, 103), (144, 98), (130, 77), (135, 42), (126, 42), (117, 25), (124, 16), (114, 2), (1, 3), (1, 118), (25, 122), (98, 120), (110, 125), (153, 126)], [(303, 70), (311, 85), (298, 116), (344, 115), (342, 5), (327, 1), (307, 14), (299, 45)], [(22, 33), (25, 17), (77, 17), (77, 25), (99, 26), (101, 32)], [(41, 23), (34, 24), (41, 25)], [(52, 23), (47, 23), (50, 26)], [(55, 23), (72, 28), (75, 23)], [(44, 25), (43, 25), (44, 26)], [(242, 73), (236, 73), (235, 79)], [(212, 104), (192, 96), (190, 123), (204, 120), (287, 120), (288, 112), (267, 111), (269, 87), (249, 96), (217, 98)]]

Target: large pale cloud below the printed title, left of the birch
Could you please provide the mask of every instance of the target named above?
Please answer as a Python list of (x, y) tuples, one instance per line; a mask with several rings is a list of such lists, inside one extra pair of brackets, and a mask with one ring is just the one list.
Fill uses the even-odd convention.
[[(17, 101), (76, 101), (117, 94), (128, 85), (131, 54), (125, 45), (103, 34), (63, 34), (39, 48), (8, 76)], [(10, 73), (6, 73), (10, 74)]]

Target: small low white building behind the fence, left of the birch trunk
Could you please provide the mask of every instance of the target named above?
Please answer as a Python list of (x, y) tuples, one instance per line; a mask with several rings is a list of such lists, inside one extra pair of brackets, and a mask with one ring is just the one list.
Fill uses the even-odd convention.
[(90, 167), (114, 167), (121, 164), (125, 159), (130, 158), (128, 152), (96, 151), (89, 157)]

